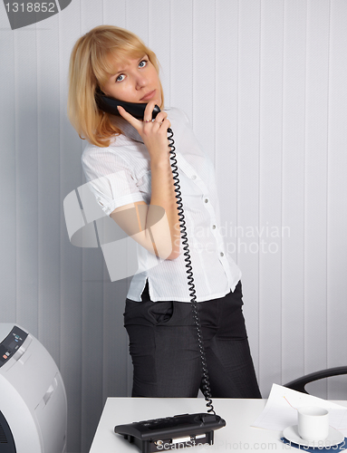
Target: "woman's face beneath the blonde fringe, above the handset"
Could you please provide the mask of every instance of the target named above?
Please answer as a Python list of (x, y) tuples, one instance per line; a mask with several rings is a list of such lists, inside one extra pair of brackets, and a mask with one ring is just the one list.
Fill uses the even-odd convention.
[(147, 103), (153, 100), (161, 104), (159, 75), (147, 55), (117, 64), (101, 89), (120, 101)]

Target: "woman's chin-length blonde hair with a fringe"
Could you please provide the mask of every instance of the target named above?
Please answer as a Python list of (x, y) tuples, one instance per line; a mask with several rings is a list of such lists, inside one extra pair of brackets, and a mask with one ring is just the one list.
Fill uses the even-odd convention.
[[(69, 67), (68, 116), (82, 140), (107, 147), (121, 130), (109, 113), (97, 107), (95, 90), (108, 81), (114, 65), (128, 58), (147, 54), (159, 73), (157, 56), (136, 34), (112, 25), (100, 25), (84, 34), (74, 44)], [(160, 89), (162, 87), (160, 83)], [(162, 96), (160, 109), (164, 103)]]

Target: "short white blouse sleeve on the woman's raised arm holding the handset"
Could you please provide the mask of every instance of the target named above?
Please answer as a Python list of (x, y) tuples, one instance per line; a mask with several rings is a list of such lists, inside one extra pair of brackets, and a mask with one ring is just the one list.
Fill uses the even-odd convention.
[(110, 216), (117, 207), (144, 201), (130, 165), (110, 148), (87, 146), (82, 169), (97, 202)]

